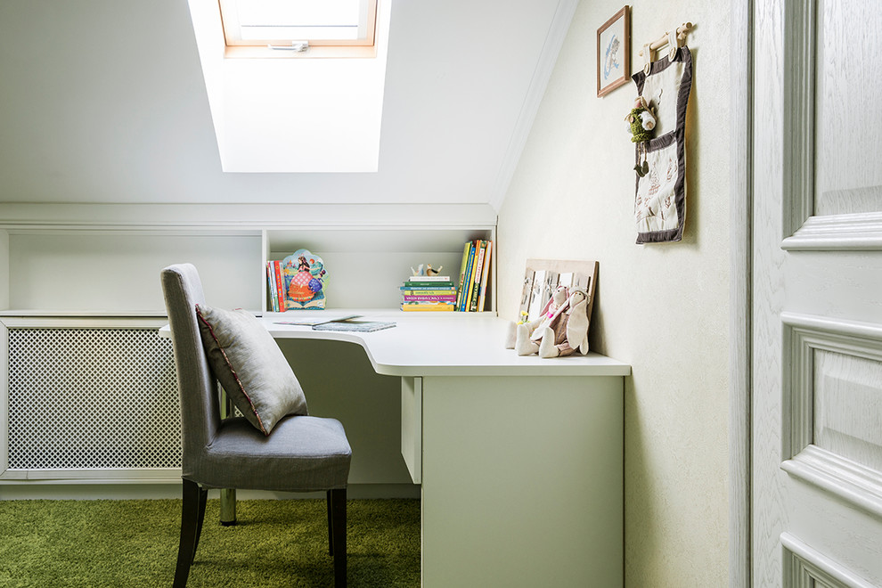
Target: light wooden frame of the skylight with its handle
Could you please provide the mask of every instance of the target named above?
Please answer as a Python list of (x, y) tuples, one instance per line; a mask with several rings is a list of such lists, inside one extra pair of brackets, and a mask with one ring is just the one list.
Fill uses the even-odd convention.
[[(217, 0), (225, 37), (226, 57), (373, 57), (376, 55), (378, 0), (367, 0), (365, 36), (359, 39), (326, 38), (261, 38), (242, 39), (241, 26), (235, 6), (236, 0)], [(226, 12), (225, 12), (226, 11)], [(292, 41), (306, 41), (306, 53), (274, 51), (268, 47), (290, 46)]]

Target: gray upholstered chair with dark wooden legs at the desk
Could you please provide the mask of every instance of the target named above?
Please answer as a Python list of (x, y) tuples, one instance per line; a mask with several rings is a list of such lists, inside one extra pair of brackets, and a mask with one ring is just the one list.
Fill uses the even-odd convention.
[(346, 487), (351, 450), (339, 421), (285, 416), (269, 435), (243, 417), (222, 420), (217, 380), (200, 339), (196, 305), (204, 305), (190, 264), (162, 270), (181, 395), (184, 505), (175, 586), (184, 586), (199, 544), (209, 488), (325, 491), (335, 585), (346, 585)]

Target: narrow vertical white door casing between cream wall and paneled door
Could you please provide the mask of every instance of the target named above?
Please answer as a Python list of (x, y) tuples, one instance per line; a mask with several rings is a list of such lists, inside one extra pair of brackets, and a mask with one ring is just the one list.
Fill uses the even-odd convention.
[(729, 585), (749, 588), (753, 0), (731, 0)]

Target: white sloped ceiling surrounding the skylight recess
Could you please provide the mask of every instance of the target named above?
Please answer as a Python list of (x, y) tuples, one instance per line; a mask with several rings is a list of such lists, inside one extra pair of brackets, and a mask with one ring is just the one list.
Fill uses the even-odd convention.
[(393, 4), (379, 171), (241, 174), (187, 3), (0, 3), (0, 202), (486, 203), (558, 4)]

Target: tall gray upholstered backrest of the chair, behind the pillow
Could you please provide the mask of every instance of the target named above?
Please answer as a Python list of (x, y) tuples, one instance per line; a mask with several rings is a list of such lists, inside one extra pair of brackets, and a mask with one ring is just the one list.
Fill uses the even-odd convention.
[(220, 426), (217, 382), (208, 369), (196, 318), (196, 305), (205, 304), (199, 273), (192, 264), (169, 265), (161, 279), (181, 395), (182, 466), (187, 478)]

